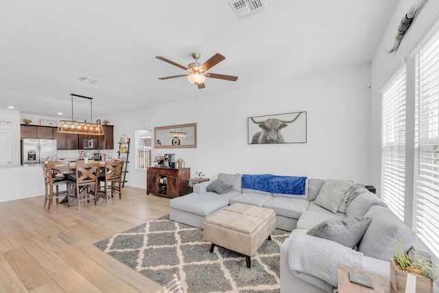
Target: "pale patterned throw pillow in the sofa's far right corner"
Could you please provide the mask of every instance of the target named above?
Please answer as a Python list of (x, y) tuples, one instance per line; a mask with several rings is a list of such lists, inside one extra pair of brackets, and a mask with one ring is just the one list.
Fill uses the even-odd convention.
[[(346, 208), (346, 202), (348, 202), (348, 197), (354, 187), (355, 183), (350, 180), (328, 179), (324, 181), (314, 203), (333, 213), (337, 213), (340, 205), (343, 205), (343, 203), (343, 208)], [(342, 212), (344, 211), (342, 210)]]

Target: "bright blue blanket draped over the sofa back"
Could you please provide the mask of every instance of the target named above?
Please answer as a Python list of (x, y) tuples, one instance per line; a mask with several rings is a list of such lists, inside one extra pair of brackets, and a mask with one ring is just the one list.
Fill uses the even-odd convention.
[(272, 174), (242, 176), (242, 188), (257, 189), (275, 194), (305, 195), (307, 177), (276, 176)]

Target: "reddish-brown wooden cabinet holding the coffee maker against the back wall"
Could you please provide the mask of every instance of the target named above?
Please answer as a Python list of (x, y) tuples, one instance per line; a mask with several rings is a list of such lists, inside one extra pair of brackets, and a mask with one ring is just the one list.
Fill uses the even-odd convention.
[(147, 167), (146, 194), (176, 198), (185, 196), (188, 192), (188, 179), (191, 175), (191, 168), (167, 168)]

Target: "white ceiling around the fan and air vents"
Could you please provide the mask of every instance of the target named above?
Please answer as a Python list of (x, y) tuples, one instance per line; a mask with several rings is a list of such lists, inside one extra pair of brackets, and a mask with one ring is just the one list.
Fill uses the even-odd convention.
[[(264, 0), (239, 21), (228, 1), (1, 1), (0, 108), (71, 119), (70, 93), (93, 97), (93, 119), (233, 91), (278, 78), (370, 62), (398, 0)], [(396, 28), (395, 28), (396, 30)], [(390, 41), (391, 43), (391, 41)], [(180, 65), (215, 53), (226, 60), (198, 89)], [(86, 75), (100, 80), (88, 84)], [(73, 119), (90, 120), (73, 99)]]

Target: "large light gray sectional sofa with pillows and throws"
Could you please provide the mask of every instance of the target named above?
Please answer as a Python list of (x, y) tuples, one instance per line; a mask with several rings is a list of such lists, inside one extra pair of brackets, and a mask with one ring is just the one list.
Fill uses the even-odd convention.
[(219, 174), (172, 199), (169, 218), (203, 228), (206, 218), (238, 202), (273, 209), (276, 228), (292, 231), (281, 246), (281, 292), (333, 292), (339, 263), (389, 274), (398, 239), (405, 250), (416, 244), (387, 204), (348, 180)]

